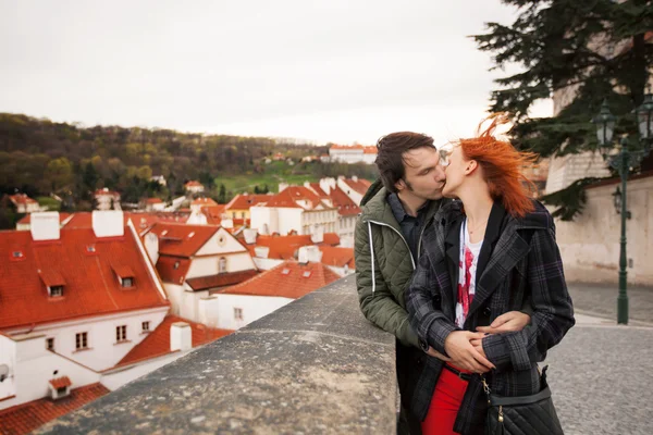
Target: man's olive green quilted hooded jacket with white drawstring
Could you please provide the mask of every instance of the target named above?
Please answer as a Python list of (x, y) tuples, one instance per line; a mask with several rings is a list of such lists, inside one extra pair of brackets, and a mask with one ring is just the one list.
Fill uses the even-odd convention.
[[(362, 314), (373, 324), (392, 333), (404, 345), (419, 347), (417, 335), (408, 321), (405, 291), (418, 259), (412, 258), (408, 244), (386, 197), (390, 191), (374, 182), (362, 198), (362, 213), (356, 222), (354, 256), (356, 287)], [(433, 221), (442, 201), (432, 201), (423, 229)], [(421, 235), (418, 256), (421, 252)]]

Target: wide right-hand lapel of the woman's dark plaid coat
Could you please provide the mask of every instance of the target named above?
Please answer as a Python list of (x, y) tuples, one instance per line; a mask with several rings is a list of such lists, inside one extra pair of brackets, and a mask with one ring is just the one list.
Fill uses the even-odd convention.
[[(496, 210), (496, 212), (497, 204), (495, 203), (492, 208), (490, 221), (488, 222), (488, 229), (490, 231), (485, 231), (485, 239), (479, 254), (479, 266), (481, 266), (481, 260), (485, 261), (485, 264), (482, 264), (483, 269), (477, 271), (476, 294), (469, 307), (468, 319), (488, 300), (508, 272), (528, 254), (530, 249), (526, 240), (517, 233), (517, 221), (508, 216), (503, 207), (498, 207), (501, 210)], [(503, 214), (501, 214), (501, 211), (503, 211)], [(490, 227), (493, 214), (495, 219), (492, 227)], [(500, 215), (502, 220), (497, 223), (496, 219)], [(505, 220), (507, 222), (504, 222)], [(490, 237), (495, 237), (495, 244), (488, 243)], [(485, 250), (486, 259), (483, 259), (483, 250)]]

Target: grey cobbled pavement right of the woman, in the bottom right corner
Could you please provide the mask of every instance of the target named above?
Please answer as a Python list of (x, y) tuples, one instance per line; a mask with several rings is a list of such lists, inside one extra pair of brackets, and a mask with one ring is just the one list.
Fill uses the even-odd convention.
[(565, 434), (653, 434), (653, 327), (576, 320), (546, 361)]

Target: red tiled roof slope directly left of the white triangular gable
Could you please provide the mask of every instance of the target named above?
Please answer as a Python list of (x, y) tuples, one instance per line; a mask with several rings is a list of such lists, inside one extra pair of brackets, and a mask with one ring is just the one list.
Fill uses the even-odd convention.
[(192, 257), (219, 229), (215, 225), (185, 225), (157, 222), (150, 233), (159, 236), (159, 253)]

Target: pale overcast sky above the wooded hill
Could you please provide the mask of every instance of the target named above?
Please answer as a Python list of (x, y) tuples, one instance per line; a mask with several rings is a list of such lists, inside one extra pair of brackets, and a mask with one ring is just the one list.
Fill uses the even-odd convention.
[(498, 0), (0, 0), (0, 112), (441, 144), (475, 132), (501, 74), (466, 36), (513, 14)]

